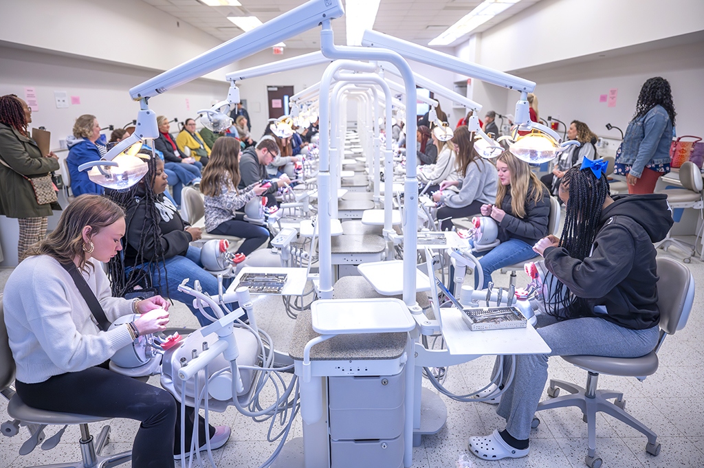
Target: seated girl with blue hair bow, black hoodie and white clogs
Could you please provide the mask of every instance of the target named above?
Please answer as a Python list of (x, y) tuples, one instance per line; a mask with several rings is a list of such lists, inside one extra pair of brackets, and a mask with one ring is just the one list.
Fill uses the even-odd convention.
[[(548, 314), (538, 316), (538, 333), (550, 346), (546, 355), (517, 355), (515, 378), (496, 412), (506, 429), (470, 438), (477, 457), (499, 460), (528, 455), (531, 422), (548, 379), (548, 357), (597, 355), (637, 358), (658, 342), (658, 274), (653, 242), (672, 226), (667, 196), (609, 196), (605, 161), (584, 160), (560, 184), (566, 205), (561, 239), (547, 236), (535, 245), (560, 284), (547, 298)], [(504, 372), (510, 372), (504, 359)], [(494, 372), (498, 372), (497, 365)], [(495, 374), (496, 375), (496, 374)]]

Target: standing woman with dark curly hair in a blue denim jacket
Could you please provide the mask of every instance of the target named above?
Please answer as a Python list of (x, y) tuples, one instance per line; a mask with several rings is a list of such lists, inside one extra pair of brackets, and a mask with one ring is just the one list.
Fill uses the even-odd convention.
[(629, 194), (652, 194), (658, 178), (670, 172), (675, 115), (670, 83), (661, 77), (646, 81), (614, 167), (627, 176)]

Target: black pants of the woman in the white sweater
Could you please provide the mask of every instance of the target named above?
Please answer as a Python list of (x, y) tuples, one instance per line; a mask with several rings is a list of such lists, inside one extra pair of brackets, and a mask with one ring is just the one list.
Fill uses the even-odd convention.
[[(26, 405), (39, 410), (99, 417), (136, 419), (142, 424), (132, 445), (132, 467), (174, 466), (181, 452), (180, 405), (163, 390), (117, 374), (104, 367), (56, 375), (39, 384), (16, 381), (15, 388)], [(186, 450), (190, 448), (194, 409), (186, 418)], [(206, 443), (205, 422), (199, 419), (199, 446)], [(210, 427), (210, 436), (215, 428)]]

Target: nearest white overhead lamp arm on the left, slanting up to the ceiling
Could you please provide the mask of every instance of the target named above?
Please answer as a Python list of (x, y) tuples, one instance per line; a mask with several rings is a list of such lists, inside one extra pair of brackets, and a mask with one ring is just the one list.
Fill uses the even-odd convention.
[(340, 18), (342, 15), (344, 8), (340, 0), (310, 0), (196, 58), (146, 80), (130, 89), (130, 96), (135, 101), (156, 96), (306, 32), (323, 21)]

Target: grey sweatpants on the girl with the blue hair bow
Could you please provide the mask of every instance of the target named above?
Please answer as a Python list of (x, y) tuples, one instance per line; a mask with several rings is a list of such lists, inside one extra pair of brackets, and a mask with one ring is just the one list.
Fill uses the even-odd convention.
[[(655, 348), (660, 334), (660, 327), (631, 330), (598, 317), (557, 322), (549, 315), (539, 315), (536, 327), (552, 352), (517, 355), (513, 384), (506, 388), (496, 408), (496, 414), (506, 419), (508, 434), (519, 440), (527, 439), (530, 434), (531, 423), (548, 380), (549, 356), (638, 358)], [(493, 375), (498, 373), (499, 362), (497, 358)], [(503, 362), (503, 375), (508, 377), (510, 357), (507, 356)]]

